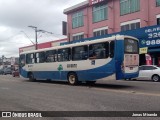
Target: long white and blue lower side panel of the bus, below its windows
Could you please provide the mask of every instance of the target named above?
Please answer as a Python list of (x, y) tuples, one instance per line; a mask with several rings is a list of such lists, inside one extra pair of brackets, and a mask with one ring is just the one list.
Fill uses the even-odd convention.
[[(101, 61), (106, 61), (105, 63)], [(71, 61), (73, 64), (73, 61)], [(93, 64), (94, 62), (94, 64)], [(76, 63), (76, 62), (75, 62)], [(82, 63), (84, 63), (82, 65)], [(58, 63), (58, 64), (50, 64), (51, 68), (53, 69), (45, 69), (44, 71), (42, 68), (38, 66), (34, 66), (32, 71), (30, 71), (26, 65), (26, 68), (23, 68), (22, 76), (27, 78), (28, 72), (32, 72), (36, 79), (51, 79), (51, 80), (67, 80), (67, 75), (69, 72), (75, 72), (78, 76), (79, 81), (96, 81), (97, 79), (108, 77), (115, 73), (115, 60), (114, 59), (105, 59), (105, 60), (88, 60), (86, 62), (82, 61), (77, 63), (77, 68), (67, 68), (66, 66), (70, 64), (68, 63)], [(85, 65), (86, 64), (86, 65)], [(58, 66), (61, 65), (63, 70), (57, 70)], [(85, 67), (84, 67), (85, 66)], [(98, 67), (97, 67), (98, 66)], [(34, 68), (35, 67), (35, 68)], [(37, 67), (37, 68), (36, 68)], [(48, 67), (48, 66), (46, 66)], [(27, 70), (28, 69), (28, 70)], [(79, 69), (79, 70), (78, 70)], [(81, 69), (81, 70), (80, 70)]]

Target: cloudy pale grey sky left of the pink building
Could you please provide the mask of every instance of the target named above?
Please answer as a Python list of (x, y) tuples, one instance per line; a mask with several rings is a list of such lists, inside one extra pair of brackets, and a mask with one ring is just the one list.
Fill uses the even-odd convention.
[(35, 43), (36, 26), (54, 34), (38, 33), (38, 43), (66, 38), (62, 35), (65, 8), (85, 0), (0, 0), (0, 57), (18, 57), (19, 48)]

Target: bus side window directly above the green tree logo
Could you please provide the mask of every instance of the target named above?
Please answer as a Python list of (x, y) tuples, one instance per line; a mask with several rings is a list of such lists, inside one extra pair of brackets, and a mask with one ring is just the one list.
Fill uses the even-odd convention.
[(70, 48), (65, 48), (65, 49), (59, 49), (58, 50), (58, 61), (61, 62), (61, 61), (70, 61), (70, 55), (71, 55), (71, 52), (70, 52)]

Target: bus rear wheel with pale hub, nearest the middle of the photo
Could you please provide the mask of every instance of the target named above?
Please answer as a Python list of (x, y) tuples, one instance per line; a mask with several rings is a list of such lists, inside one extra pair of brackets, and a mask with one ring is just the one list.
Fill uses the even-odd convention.
[(76, 73), (71, 72), (68, 74), (68, 83), (70, 85), (77, 85), (78, 84), (78, 77), (77, 77)]

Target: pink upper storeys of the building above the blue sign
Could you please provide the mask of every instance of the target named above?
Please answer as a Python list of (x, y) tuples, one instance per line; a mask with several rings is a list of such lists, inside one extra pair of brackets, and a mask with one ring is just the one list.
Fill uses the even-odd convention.
[(160, 0), (87, 0), (64, 10), (68, 39), (160, 24)]

